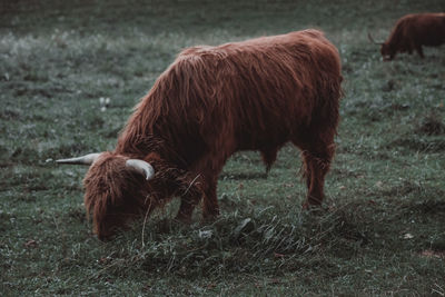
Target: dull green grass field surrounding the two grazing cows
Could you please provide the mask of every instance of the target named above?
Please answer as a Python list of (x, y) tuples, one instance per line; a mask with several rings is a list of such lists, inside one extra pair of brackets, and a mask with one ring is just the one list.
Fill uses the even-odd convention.
[[(443, 0), (69, 2), (0, 2), (1, 296), (445, 296), (445, 47), (383, 62), (366, 37)], [(99, 241), (86, 168), (51, 160), (113, 149), (180, 49), (305, 28), (338, 47), (345, 77), (324, 210), (300, 208), (294, 147), (267, 179), (243, 151), (215, 222), (174, 222), (174, 201)]]

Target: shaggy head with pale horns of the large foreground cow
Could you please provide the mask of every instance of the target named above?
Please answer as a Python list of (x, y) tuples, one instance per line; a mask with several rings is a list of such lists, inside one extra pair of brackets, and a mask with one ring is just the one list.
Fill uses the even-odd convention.
[(147, 181), (155, 170), (148, 162), (112, 152), (89, 154), (79, 158), (57, 160), (58, 164), (90, 166), (85, 179), (85, 206), (92, 217), (95, 232), (103, 240), (141, 209), (150, 211)]

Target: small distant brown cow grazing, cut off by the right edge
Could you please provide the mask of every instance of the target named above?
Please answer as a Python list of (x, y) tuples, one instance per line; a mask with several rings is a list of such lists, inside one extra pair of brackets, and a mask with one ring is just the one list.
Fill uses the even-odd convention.
[[(369, 39), (374, 41), (370, 34)], [(438, 47), (445, 43), (445, 13), (407, 14), (400, 18), (385, 42), (380, 52), (384, 60), (393, 60), (397, 52), (417, 51), (424, 58), (422, 46)]]

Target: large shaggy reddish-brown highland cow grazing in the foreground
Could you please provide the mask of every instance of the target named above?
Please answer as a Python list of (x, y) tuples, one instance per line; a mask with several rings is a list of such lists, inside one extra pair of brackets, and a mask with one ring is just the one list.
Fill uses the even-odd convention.
[(288, 141), (301, 149), (305, 206), (320, 205), (342, 97), (337, 49), (317, 30), (184, 50), (141, 99), (115, 151), (58, 162), (91, 165), (85, 205), (100, 239), (180, 198), (177, 219), (219, 214), (217, 180), (239, 150), (270, 168)]

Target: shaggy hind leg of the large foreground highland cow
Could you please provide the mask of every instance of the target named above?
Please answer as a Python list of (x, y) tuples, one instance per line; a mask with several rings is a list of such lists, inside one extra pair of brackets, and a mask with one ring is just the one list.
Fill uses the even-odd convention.
[(325, 176), (335, 154), (335, 131), (314, 133), (305, 139), (296, 139), (294, 143), (303, 150), (304, 177), (308, 188), (304, 208), (320, 206), (325, 197)]

